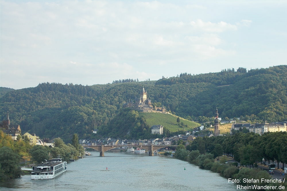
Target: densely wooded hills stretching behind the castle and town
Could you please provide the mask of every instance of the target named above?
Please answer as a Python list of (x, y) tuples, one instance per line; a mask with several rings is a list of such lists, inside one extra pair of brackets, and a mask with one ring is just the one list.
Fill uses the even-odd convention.
[(73, 133), (88, 137), (94, 128), (110, 129), (108, 122), (126, 101), (139, 98), (144, 85), (153, 103), (186, 119), (212, 117), (218, 107), (219, 117), (286, 121), (286, 74), (287, 66), (282, 65), (93, 86), (42, 83), (1, 92), (1, 120), (9, 111), (12, 123), (41, 138), (68, 139)]

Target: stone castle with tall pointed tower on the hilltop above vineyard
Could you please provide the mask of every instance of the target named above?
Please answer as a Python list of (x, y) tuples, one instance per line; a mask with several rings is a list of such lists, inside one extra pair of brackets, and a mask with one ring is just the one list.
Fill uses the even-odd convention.
[(138, 111), (146, 112), (146, 113), (147, 112), (166, 113), (166, 110), (163, 105), (162, 107), (154, 107), (152, 105), (152, 101), (148, 99), (147, 92), (144, 89), (144, 86), (141, 91), (140, 97), (135, 98), (135, 102), (133, 102), (133, 100), (128, 101), (127, 103), (123, 105), (123, 107), (129, 107), (134, 110), (138, 110)]

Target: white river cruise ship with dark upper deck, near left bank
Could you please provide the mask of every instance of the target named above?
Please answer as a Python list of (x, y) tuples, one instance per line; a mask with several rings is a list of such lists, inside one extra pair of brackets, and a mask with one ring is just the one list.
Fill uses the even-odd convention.
[(67, 171), (67, 162), (58, 156), (32, 167), (31, 179), (53, 179)]

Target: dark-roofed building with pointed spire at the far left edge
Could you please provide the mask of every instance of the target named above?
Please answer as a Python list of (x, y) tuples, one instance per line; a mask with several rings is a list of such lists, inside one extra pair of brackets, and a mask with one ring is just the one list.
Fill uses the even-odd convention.
[(3, 120), (0, 124), (3, 133), (9, 135), (11, 139), (16, 140), (18, 135), (21, 135), (20, 125), (10, 124), (9, 112), (7, 111), (7, 119)]

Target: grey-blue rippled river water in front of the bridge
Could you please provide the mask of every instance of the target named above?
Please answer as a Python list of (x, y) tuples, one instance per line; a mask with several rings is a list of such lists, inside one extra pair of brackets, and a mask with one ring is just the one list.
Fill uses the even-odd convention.
[[(0, 184), (1, 190), (236, 190), (217, 173), (174, 157), (145, 153), (91, 151), (68, 163), (67, 172), (51, 180), (30, 175)], [(108, 170), (106, 170), (108, 168)], [(186, 170), (184, 170), (186, 169)]]

